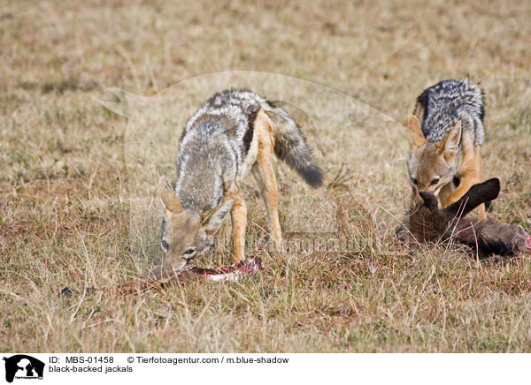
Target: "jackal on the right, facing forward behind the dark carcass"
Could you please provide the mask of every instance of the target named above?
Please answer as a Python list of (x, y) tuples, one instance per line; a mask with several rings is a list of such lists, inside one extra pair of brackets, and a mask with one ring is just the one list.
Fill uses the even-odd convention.
[(443, 80), (419, 95), (407, 127), (412, 203), (427, 191), (445, 208), (483, 181), (484, 115), (481, 89), (468, 79)]

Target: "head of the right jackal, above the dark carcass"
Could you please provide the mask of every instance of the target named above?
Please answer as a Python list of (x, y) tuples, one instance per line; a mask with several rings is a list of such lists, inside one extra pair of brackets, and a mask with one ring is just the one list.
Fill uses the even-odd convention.
[(461, 121), (443, 140), (429, 143), (420, 129), (419, 118), (412, 115), (407, 125), (410, 140), (410, 157), (407, 169), (413, 189), (438, 195), (444, 185), (456, 176), (456, 155), (461, 140)]

